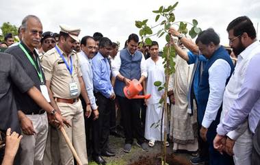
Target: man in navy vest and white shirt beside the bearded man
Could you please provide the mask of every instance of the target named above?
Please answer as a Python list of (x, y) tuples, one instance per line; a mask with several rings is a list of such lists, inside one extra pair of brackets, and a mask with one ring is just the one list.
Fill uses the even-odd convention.
[(209, 144), (209, 164), (233, 164), (229, 155), (221, 155), (213, 148), (213, 138), (222, 112), (224, 88), (233, 73), (233, 62), (229, 53), (220, 46), (220, 38), (213, 29), (200, 32), (196, 45), (208, 59), (198, 86), (198, 123), (202, 125), (200, 137)]

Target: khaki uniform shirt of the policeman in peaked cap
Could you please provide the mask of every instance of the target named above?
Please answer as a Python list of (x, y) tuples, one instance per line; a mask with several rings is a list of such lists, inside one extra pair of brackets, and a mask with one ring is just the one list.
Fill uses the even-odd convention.
[[(47, 51), (47, 53), (44, 53), (42, 58), (42, 68), (44, 70), (45, 79), (47, 81), (51, 81), (51, 91), (53, 92), (53, 97), (74, 99), (79, 97), (81, 92), (78, 79), (78, 77), (82, 76), (79, 66), (79, 58), (74, 51), (68, 56), (62, 51), (62, 49), (60, 49), (60, 52), (64, 55), (68, 66), (70, 66), (70, 59), (68, 56), (71, 56), (73, 61), (73, 74), (70, 75), (70, 71), (68, 71), (66, 64), (54, 47), (53, 49)], [(74, 81), (77, 82), (78, 94), (77, 96), (70, 97), (69, 84)]]

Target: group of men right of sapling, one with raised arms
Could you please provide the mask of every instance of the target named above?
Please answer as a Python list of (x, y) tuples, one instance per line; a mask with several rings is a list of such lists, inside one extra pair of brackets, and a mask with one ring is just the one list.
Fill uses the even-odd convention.
[[(197, 112), (199, 155), (191, 160), (192, 164), (259, 164), (259, 74), (256, 71), (260, 43), (247, 16), (235, 18), (226, 31), (237, 57), (235, 67), (213, 29), (198, 34), (196, 45), (174, 28), (169, 31), (190, 50), (183, 51), (173, 44), (177, 54), (188, 64), (194, 64), (187, 92), (187, 113)], [(173, 136), (177, 140), (183, 138), (178, 134)]]

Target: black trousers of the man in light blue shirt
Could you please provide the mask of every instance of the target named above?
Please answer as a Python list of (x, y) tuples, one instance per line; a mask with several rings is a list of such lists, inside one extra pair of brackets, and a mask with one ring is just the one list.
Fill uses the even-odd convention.
[(92, 121), (93, 154), (101, 155), (101, 152), (108, 149), (112, 101), (99, 92), (94, 95), (97, 99), (96, 104), (99, 106), (99, 118)]

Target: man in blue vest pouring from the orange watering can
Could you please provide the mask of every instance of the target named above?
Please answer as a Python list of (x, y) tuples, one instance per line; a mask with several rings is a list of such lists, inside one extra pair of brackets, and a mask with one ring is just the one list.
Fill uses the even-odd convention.
[(137, 51), (138, 41), (138, 35), (130, 34), (127, 40), (127, 48), (118, 52), (112, 65), (113, 76), (116, 77), (114, 90), (120, 105), (125, 129), (126, 139), (123, 150), (126, 153), (131, 152), (134, 134), (138, 141), (137, 145), (142, 147), (143, 151), (148, 151), (140, 120), (141, 99), (127, 99), (123, 92), (123, 88), (129, 86), (132, 79), (138, 79), (142, 84), (147, 76), (144, 55)]

